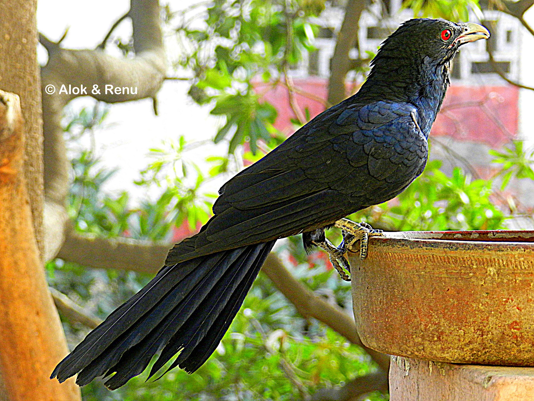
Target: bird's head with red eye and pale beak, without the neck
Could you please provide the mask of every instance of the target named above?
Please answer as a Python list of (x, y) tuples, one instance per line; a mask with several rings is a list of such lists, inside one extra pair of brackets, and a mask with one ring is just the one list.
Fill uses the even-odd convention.
[(382, 43), (377, 59), (400, 56), (418, 63), (428, 57), (435, 64), (444, 64), (454, 57), (461, 45), (489, 37), (488, 29), (473, 22), (457, 24), (443, 19), (412, 19)]

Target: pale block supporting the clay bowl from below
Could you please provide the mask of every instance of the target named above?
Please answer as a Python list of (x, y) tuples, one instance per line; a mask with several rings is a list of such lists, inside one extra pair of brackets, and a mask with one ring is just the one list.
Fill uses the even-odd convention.
[(534, 398), (534, 368), (391, 359), (391, 401), (531, 401)]

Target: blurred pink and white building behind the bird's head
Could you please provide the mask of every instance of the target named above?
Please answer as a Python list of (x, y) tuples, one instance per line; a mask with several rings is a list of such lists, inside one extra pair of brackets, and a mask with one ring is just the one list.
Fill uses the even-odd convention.
[[(374, 2), (364, 11), (359, 30), (362, 58), (372, 56), (399, 24), (413, 18), (412, 10), (400, 6), (401, 0), (386, 0)], [(431, 157), (444, 160), (444, 170), (449, 172), (459, 165), (458, 160), (464, 159), (484, 176), (490, 169), (488, 150), (500, 148), (518, 134), (519, 88), (494, 72), (494, 66), (508, 79), (521, 81), (522, 27), (516, 18), (488, 10), (487, 2), (482, 1), (481, 6), (483, 16), (478, 17), (482, 18), (472, 13), (470, 20), (481, 22), (490, 30), (491, 38), (464, 45), (454, 58), (451, 87), (431, 132), (435, 138)], [(311, 118), (325, 109), (325, 104), (317, 98), (327, 97), (329, 64), (342, 21), (343, 9), (328, 6), (316, 21), (321, 26), (315, 42), (317, 50), (308, 52), (291, 70), (295, 87), (299, 89), (297, 103)], [(489, 59), (489, 52), (494, 63)], [(352, 49), (350, 56), (357, 59), (358, 50)], [(347, 95), (356, 92), (362, 82), (361, 73), (349, 73)], [(287, 88), (279, 86), (265, 98), (277, 106), (277, 128), (292, 133), (294, 127), (289, 121), (295, 117), (288, 107)]]

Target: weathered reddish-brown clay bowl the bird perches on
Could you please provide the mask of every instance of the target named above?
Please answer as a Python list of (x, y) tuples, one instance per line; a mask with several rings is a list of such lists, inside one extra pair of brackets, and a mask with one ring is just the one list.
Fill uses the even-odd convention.
[(386, 233), (349, 253), (365, 345), (405, 357), (534, 366), (534, 232)]

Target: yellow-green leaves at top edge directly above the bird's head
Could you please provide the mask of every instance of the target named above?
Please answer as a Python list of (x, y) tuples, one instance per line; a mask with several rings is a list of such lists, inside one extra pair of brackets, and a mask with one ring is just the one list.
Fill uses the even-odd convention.
[(482, 19), (478, 0), (404, 0), (403, 6), (412, 9), (416, 17), (460, 22), (469, 20), (469, 11), (473, 11)]

